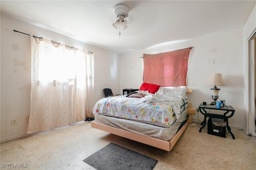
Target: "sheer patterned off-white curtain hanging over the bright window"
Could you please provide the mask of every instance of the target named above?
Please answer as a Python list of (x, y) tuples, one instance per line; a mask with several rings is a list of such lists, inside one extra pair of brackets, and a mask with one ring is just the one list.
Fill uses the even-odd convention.
[(92, 117), (94, 55), (31, 36), (30, 105), (28, 133)]

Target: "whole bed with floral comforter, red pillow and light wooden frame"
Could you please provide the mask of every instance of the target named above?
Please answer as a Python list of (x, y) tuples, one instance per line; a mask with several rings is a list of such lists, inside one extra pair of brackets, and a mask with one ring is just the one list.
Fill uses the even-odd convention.
[(91, 126), (170, 151), (196, 113), (186, 96), (192, 89), (156, 89), (99, 100)]

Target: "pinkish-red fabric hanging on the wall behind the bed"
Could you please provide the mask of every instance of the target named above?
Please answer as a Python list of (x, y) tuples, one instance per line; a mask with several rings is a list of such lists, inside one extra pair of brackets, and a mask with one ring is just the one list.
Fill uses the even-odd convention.
[(188, 57), (192, 47), (158, 54), (143, 54), (143, 83), (161, 87), (186, 86)]

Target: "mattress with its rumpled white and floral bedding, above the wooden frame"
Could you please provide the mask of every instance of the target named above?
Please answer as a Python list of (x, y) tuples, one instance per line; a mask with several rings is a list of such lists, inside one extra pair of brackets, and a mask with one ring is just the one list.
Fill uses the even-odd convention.
[(144, 136), (170, 141), (187, 119), (186, 89), (161, 88), (146, 96), (108, 97), (96, 103), (95, 122), (121, 128)]

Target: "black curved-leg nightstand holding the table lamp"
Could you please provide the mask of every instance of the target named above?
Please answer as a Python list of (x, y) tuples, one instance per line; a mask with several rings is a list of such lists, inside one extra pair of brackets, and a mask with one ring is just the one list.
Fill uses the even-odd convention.
[[(208, 113), (205, 109), (209, 110)], [(225, 113), (223, 113), (223, 115), (213, 114), (213, 113), (210, 113), (211, 110), (225, 111)], [(226, 105), (226, 106), (223, 106), (220, 109), (218, 109), (214, 105), (210, 105), (210, 104), (203, 105), (201, 103), (199, 105), (199, 111), (200, 111), (200, 113), (202, 113), (204, 115), (204, 121), (201, 123), (202, 127), (200, 128), (199, 132), (201, 132), (202, 129), (205, 127), (207, 117), (217, 118), (217, 119), (224, 119), (224, 120), (226, 120), (226, 123), (227, 123), (226, 127), (228, 129), (228, 132), (230, 132), (232, 138), (235, 139), (235, 136), (231, 132), (231, 128), (228, 125), (228, 118), (232, 117), (235, 113), (235, 109), (232, 106), (227, 106)], [(227, 116), (227, 114), (230, 113), (230, 112), (231, 112), (231, 114), (229, 116)]]

